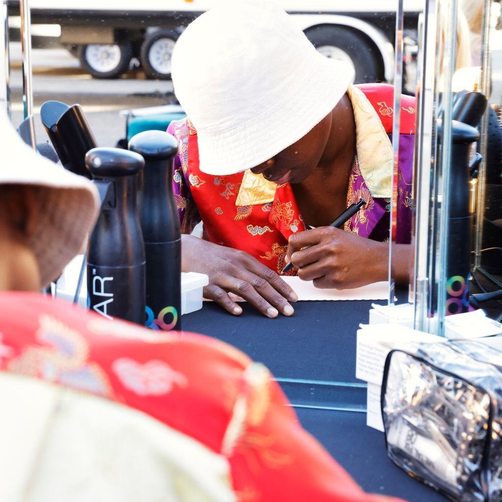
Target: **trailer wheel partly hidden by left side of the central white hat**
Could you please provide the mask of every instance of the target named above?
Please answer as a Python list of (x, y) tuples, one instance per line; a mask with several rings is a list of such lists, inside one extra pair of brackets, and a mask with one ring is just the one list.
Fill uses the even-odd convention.
[(148, 78), (171, 78), (171, 56), (179, 36), (179, 33), (172, 30), (158, 30), (145, 38), (140, 59)]

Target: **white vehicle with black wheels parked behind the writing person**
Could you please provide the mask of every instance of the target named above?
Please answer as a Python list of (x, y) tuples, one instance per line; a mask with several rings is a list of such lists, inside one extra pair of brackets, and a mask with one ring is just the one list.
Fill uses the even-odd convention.
[[(30, 0), (32, 24), (59, 25), (59, 42), (96, 78), (139, 61), (147, 77), (171, 76), (171, 53), (187, 24), (222, 0)], [(238, 0), (235, 0), (238, 2)], [(356, 82), (391, 81), (397, 0), (275, 0), (317, 50), (352, 63)], [(19, 0), (7, 0), (10, 15)], [(416, 31), (422, 2), (404, 0), (405, 30)]]

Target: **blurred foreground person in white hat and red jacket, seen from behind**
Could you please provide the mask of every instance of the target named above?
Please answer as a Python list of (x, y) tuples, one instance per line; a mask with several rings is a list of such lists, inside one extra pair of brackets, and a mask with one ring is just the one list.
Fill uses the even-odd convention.
[(42, 296), (99, 198), (0, 127), (0, 500), (399, 502), (365, 493), (239, 350)]

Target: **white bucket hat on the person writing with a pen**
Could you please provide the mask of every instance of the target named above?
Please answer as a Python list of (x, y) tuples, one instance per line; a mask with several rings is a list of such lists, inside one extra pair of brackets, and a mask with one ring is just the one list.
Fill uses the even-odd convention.
[(197, 130), (201, 171), (258, 166), (305, 136), (338, 103), (350, 64), (319, 54), (274, 2), (232, 0), (178, 39), (174, 90)]

